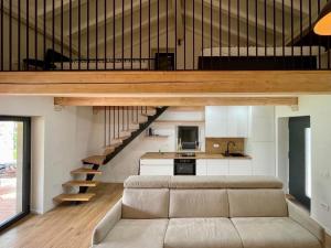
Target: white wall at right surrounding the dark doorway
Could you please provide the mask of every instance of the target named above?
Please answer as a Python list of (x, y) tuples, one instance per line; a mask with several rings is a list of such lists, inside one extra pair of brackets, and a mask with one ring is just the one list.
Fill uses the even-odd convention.
[[(276, 107), (278, 119), (293, 116), (310, 116), (312, 148), (312, 198), (311, 216), (331, 234), (331, 96), (302, 96), (299, 110), (289, 107)], [(329, 206), (329, 212), (323, 205)]]

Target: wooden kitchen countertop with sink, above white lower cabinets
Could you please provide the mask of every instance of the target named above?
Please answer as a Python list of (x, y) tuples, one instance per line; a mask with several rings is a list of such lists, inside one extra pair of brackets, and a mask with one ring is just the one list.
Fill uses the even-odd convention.
[[(185, 153), (185, 152), (181, 152)], [(140, 159), (156, 160), (156, 159), (224, 159), (224, 160), (252, 160), (252, 157), (224, 157), (222, 154), (212, 154), (205, 152), (195, 152), (195, 157), (183, 157), (180, 152), (147, 152)]]

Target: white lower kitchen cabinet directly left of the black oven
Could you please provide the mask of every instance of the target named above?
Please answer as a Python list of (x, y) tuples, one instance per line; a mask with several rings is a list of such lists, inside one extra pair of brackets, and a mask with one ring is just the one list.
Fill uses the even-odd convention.
[(140, 175), (173, 175), (173, 160), (140, 160)]

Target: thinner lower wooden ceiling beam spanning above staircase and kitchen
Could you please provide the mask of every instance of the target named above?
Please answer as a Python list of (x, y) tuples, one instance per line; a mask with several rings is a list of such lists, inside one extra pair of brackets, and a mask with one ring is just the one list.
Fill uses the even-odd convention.
[(297, 106), (297, 97), (55, 97), (60, 106)]

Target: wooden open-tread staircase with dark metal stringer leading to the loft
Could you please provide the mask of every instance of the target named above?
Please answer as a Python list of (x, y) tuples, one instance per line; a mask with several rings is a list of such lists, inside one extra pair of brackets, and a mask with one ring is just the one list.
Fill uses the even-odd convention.
[[(54, 197), (57, 203), (89, 202), (95, 193), (87, 193), (89, 187), (96, 187), (99, 182), (95, 175), (103, 172), (100, 166), (106, 165), (125, 147), (135, 140), (153, 122), (167, 107), (98, 107), (105, 119), (105, 145), (100, 154), (94, 154), (82, 160), (83, 166), (71, 172), (74, 180), (65, 182), (64, 188), (79, 188), (77, 193), (64, 193)], [(85, 176), (85, 180), (76, 177)]]

